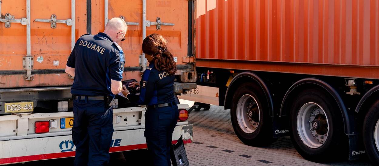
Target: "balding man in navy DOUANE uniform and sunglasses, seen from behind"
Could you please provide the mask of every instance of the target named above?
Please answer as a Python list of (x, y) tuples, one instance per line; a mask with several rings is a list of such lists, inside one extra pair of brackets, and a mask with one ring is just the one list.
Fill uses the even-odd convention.
[(66, 73), (74, 77), (71, 94), (75, 166), (100, 166), (109, 162), (113, 134), (113, 113), (109, 105), (121, 92), (125, 63), (117, 43), (125, 40), (126, 31), (124, 20), (109, 20), (103, 33), (81, 36), (67, 61)]

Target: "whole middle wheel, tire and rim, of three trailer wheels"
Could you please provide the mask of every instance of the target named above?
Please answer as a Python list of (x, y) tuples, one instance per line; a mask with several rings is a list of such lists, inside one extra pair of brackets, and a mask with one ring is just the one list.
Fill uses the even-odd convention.
[(291, 140), (300, 155), (319, 163), (348, 157), (348, 138), (335, 100), (321, 89), (308, 89), (293, 101)]

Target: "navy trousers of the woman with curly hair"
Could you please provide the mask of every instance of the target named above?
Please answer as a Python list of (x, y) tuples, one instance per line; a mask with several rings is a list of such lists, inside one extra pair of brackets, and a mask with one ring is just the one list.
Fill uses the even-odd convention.
[(150, 163), (154, 166), (171, 166), (170, 148), (172, 132), (179, 117), (178, 106), (147, 108), (145, 113), (147, 150)]

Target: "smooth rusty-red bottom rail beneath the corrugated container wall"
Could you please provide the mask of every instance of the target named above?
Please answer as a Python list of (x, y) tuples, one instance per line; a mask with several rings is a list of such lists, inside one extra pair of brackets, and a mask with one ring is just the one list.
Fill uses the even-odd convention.
[(359, 65), (197, 59), (197, 67), (379, 79), (379, 67)]

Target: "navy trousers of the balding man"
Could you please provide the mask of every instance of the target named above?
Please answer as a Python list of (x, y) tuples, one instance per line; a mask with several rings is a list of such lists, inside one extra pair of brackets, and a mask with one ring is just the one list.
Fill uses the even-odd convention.
[(74, 100), (72, 141), (76, 146), (74, 166), (109, 163), (113, 135), (113, 111), (105, 101)]

